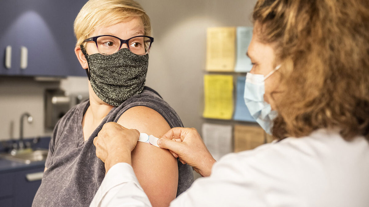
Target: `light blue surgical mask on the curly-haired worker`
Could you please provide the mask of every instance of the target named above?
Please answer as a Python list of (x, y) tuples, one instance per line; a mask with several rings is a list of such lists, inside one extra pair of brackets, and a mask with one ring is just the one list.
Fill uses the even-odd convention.
[(267, 76), (247, 73), (244, 99), (251, 116), (268, 134), (272, 134), (273, 119), (277, 112), (272, 110), (269, 103), (264, 101), (265, 80), (280, 68), (277, 66)]

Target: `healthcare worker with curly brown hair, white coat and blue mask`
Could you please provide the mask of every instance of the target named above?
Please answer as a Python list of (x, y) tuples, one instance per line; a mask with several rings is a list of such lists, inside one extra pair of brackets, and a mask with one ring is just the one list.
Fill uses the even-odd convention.
[[(277, 141), (216, 162), (195, 129), (157, 141), (204, 178), (170, 206), (369, 206), (369, 1), (259, 0), (245, 103)], [(151, 206), (131, 167), (139, 132), (94, 139), (106, 177), (91, 206)]]

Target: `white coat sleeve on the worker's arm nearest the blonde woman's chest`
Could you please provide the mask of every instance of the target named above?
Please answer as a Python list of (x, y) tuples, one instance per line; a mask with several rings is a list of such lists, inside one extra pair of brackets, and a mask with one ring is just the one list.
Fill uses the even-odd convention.
[(107, 172), (90, 207), (151, 207), (139, 185), (133, 168), (127, 163), (115, 164)]

